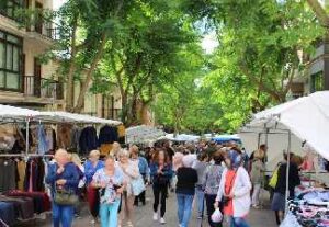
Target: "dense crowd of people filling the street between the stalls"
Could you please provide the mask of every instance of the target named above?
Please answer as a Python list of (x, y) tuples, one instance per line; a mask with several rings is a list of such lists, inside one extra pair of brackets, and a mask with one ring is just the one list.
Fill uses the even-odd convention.
[[(84, 197), (92, 223), (133, 227), (134, 209), (146, 205), (146, 185), (151, 185), (154, 222), (166, 224), (167, 198), (172, 191), (180, 227), (189, 226), (193, 203), (197, 218), (207, 217), (211, 227), (220, 227), (223, 216), (228, 217), (231, 227), (248, 227), (250, 208), (261, 206), (265, 161), (265, 145), (249, 157), (235, 143), (171, 146), (164, 140), (143, 149), (136, 145), (126, 149), (115, 143), (109, 156), (92, 150), (83, 164), (76, 154), (59, 149), (46, 177), (52, 189), (53, 224), (70, 227), (86, 204)], [(286, 162), (280, 164), (271, 191), (277, 224), (285, 208), (285, 167)], [(294, 186), (299, 184), (296, 164), (292, 164), (290, 175), (294, 179), (290, 182), (293, 195)]]

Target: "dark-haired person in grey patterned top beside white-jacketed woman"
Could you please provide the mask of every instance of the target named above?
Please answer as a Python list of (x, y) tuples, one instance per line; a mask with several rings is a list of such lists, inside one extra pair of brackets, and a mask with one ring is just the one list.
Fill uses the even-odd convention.
[[(211, 227), (222, 227), (222, 223), (214, 223), (212, 220), (212, 214), (215, 212), (214, 204), (216, 202), (217, 192), (219, 190), (222, 174), (225, 169), (222, 166), (223, 161), (224, 161), (224, 152), (216, 151), (213, 155), (213, 163), (206, 168), (203, 178), (203, 189), (205, 193), (207, 216), (208, 216), (208, 223)], [(219, 203), (218, 206), (223, 212), (222, 203)]]

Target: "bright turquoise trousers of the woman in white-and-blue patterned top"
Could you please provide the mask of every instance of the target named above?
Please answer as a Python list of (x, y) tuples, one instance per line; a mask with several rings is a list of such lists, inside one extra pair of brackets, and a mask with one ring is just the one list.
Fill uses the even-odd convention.
[(102, 227), (117, 227), (117, 211), (120, 201), (121, 200), (116, 200), (112, 204), (101, 204), (100, 217)]

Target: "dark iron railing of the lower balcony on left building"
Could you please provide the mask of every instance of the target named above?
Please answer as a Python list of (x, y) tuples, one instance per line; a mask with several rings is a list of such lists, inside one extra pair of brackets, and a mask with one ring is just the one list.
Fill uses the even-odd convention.
[(63, 84), (56, 80), (25, 76), (23, 90), (26, 97), (64, 99)]

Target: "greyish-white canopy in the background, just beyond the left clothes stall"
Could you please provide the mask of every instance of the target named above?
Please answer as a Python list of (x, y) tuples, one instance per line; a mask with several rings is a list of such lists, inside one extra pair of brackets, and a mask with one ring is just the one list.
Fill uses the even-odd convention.
[(126, 129), (126, 141), (128, 144), (144, 144), (157, 140), (159, 137), (164, 135), (166, 133), (159, 128), (139, 125)]

